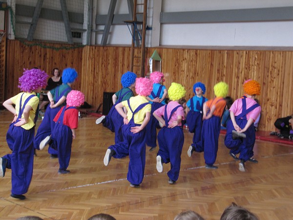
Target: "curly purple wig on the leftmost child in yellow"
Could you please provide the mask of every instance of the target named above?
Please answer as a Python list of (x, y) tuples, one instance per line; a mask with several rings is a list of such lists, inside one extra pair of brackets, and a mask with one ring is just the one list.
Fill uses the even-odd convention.
[(23, 75), (19, 78), (19, 88), (24, 92), (32, 92), (38, 88), (47, 86), (48, 75), (41, 69), (23, 69)]

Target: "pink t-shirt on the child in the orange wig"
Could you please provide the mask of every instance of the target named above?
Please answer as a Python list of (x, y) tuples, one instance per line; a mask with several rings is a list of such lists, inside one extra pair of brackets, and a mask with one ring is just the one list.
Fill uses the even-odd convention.
[[(242, 99), (237, 99), (235, 100), (235, 102), (232, 104), (230, 111), (234, 112), (234, 115), (237, 116), (239, 114), (241, 114), (242, 112)], [(256, 104), (256, 102), (254, 101), (254, 99), (251, 98), (246, 98), (246, 109), (249, 109), (251, 106), (253, 106), (254, 104)], [(248, 114), (246, 114), (246, 119), (250, 119), (252, 118), (254, 121), (257, 119), (258, 115), (261, 112), (261, 107), (257, 107), (254, 110), (252, 110), (251, 112), (249, 112)]]

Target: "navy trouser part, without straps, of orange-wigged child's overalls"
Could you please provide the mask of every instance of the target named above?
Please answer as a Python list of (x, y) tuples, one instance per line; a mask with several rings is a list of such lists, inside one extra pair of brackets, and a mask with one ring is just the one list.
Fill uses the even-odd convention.
[[(247, 123), (247, 120), (243, 119), (237, 119), (236, 124), (243, 129)], [(232, 139), (232, 131), (235, 130), (234, 126), (232, 124), (232, 121), (229, 120), (227, 124), (227, 133), (225, 136), (225, 145), (228, 149), (230, 149), (230, 152), (233, 154), (238, 154), (239, 159), (247, 161), (250, 157), (253, 156), (253, 146), (255, 143), (255, 129), (253, 124), (249, 127), (249, 129), (244, 132), (246, 134), (246, 138), (237, 138), (235, 140)]]

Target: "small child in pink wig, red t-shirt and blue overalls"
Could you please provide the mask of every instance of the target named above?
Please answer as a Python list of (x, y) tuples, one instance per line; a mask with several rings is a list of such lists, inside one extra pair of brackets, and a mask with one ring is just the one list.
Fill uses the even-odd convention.
[(72, 138), (75, 139), (75, 130), (78, 127), (78, 113), (76, 107), (84, 104), (84, 93), (71, 90), (66, 97), (66, 106), (57, 113), (56, 122), (51, 138), (56, 142), (58, 149), (59, 171), (58, 174), (68, 174), (67, 170), (71, 156)]

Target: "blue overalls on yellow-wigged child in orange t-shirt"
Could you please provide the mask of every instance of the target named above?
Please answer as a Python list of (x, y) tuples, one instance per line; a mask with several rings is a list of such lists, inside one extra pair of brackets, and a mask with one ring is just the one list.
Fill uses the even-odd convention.
[[(222, 100), (224, 99), (219, 99), (216, 102), (216, 104)], [(212, 103), (210, 104), (211, 107)], [(208, 110), (207, 114), (209, 114), (209, 112), (210, 109)], [(216, 161), (220, 130), (221, 117), (212, 115), (211, 118), (204, 120), (201, 133), (201, 140), (197, 142), (195, 145), (196, 152), (204, 152), (205, 162), (209, 166), (212, 166)]]

